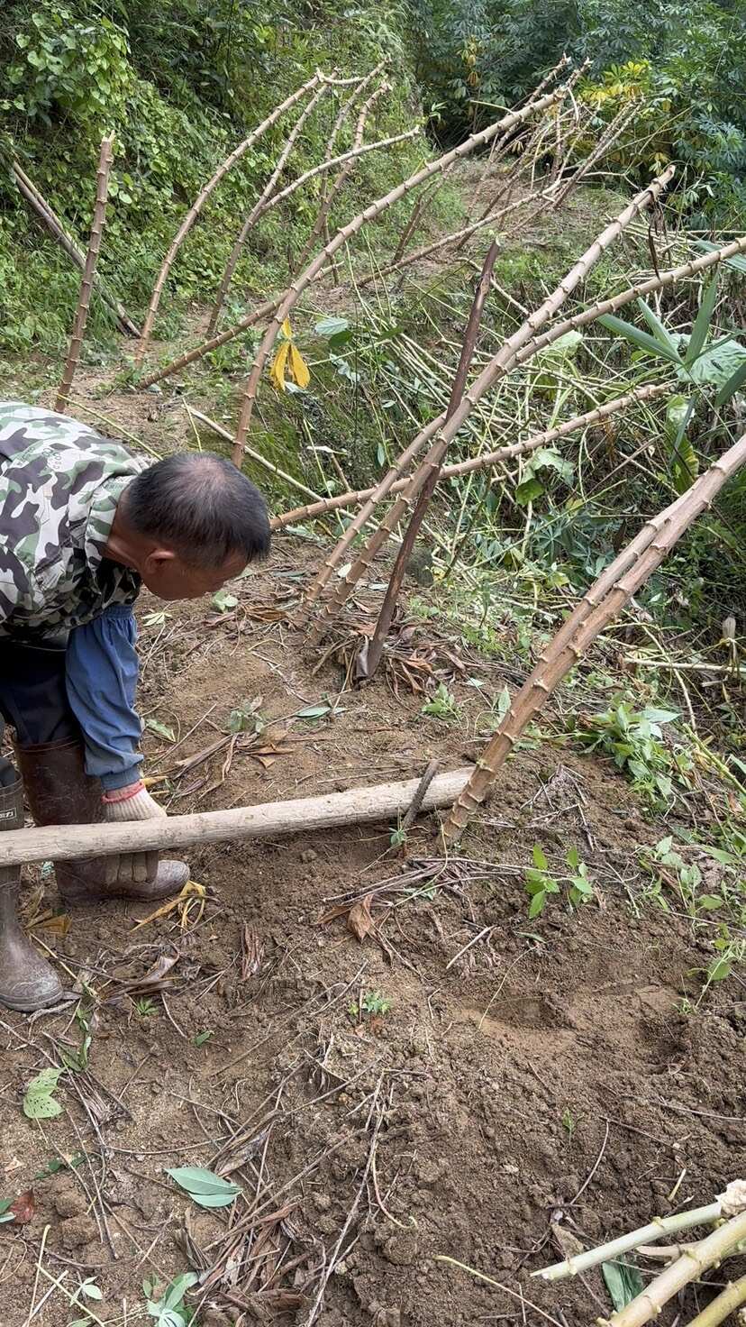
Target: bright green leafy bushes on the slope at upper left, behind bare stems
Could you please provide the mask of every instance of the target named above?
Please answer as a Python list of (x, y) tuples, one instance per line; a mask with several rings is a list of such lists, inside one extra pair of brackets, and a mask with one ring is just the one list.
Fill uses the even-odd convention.
[[(242, 137), (317, 68), (362, 74), (392, 57), (396, 86), (376, 110), (374, 137), (417, 122), (401, 16), (372, 0), (344, 9), (335, 4), (7, 0), (0, 7), (0, 346), (61, 345), (78, 284), (29, 218), (11, 174), (13, 157), (65, 224), (85, 238), (98, 143), (114, 130), (101, 265), (138, 312), (185, 204)], [(340, 96), (328, 97), (308, 121), (291, 178), (323, 158)], [(350, 133), (348, 125), (342, 149)], [(182, 303), (214, 293), (236, 219), (255, 200), (287, 134), (285, 118), (231, 171), (195, 227), (174, 272)], [(390, 187), (421, 157), (422, 146), (405, 145), (364, 158), (354, 176), (361, 195)], [(287, 273), (288, 255), (297, 253), (316, 216), (317, 194), (319, 180), (261, 223), (239, 269), (244, 288), (259, 272), (264, 291)], [(96, 307), (94, 314), (92, 330), (101, 336), (105, 311)], [(167, 322), (161, 330), (169, 330)]]

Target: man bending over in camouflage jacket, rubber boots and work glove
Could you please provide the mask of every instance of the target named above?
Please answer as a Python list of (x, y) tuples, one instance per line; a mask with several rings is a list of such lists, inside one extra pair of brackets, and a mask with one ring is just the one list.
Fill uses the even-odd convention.
[[(150, 464), (66, 415), (0, 402), (0, 829), (163, 815), (139, 778), (131, 605), (211, 594), (269, 548), (259, 491), (230, 462)], [(21, 786), (23, 779), (23, 786)], [(56, 864), (70, 902), (162, 898), (179, 861), (130, 853)], [(16, 916), (20, 868), (0, 869), (0, 1003), (40, 1009), (57, 974)]]

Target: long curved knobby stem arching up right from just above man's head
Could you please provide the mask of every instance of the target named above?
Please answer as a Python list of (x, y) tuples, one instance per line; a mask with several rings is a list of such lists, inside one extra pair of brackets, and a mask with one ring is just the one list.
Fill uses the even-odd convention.
[(240, 463), (242, 459), (240, 447), (246, 442), (246, 434), (251, 423), (256, 389), (259, 385), (259, 380), (261, 377), (261, 372), (267, 362), (267, 358), (272, 350), (272, 346), (275, 345), (277, 332), (283, 325), (284, 320), (292, 312), (296, 301), (300, 299), (303, 292), (307, 289), (311, 281), (313, 281), (313, 279), (317, 276), (321, 268), (325, 267), (329, 259), (333, 257), (337, 249), (340, 249), (342, 244), (346, 244), (348, 240), (352, 239), (352, 236), (356, 235), (357, 231), (361, 230), (361, 227), (365, 226), (366, 222), (374, 220), (377, 216), (381, 215), (382, 211), (385, 211), (385, 208), (390, 207), (393, 203), (398, 203), (400, 198), (404, 198), (413, 188), (417, 188), (419, 184), (423, 184), (426, 180), (431, 179), (433, 175), (437, 175), (441, 171), (443, 171), (447, 166), (451, 165), (451, 162), (459, 161), (462, 157), (467, 157), (478, 147), (485, 146), (485, 143), (491, 142), (495, 134), (502, 133), (504, 129), (508, 127), (508, 125), (520, 123), (527, 114), (534, 114), (538, 110), (543, 110), (544, 106), (551, 105), (560, 96), (561, 96), (560, 92), (547, 93), (546, 97), (542, 97), (538, 102), (532, 102), (531, 106), (527, 107), (526, 110), (510, 111), (507, 115), (503, 115), (502, 119), (495, 121), (494, 125), (488, 125), (487, 129), (481, 130), (481, 133), (471, 134), (470, 138), (467, 138), (463, 143), (459, 143), (458, 147), (451, 149), (450, 153), (446, 153), (443, 157), (438, 157), (435, 161), (429, 162), (421, 170), (415, 171), (414, 175), (410, 175), (408, 179), (397, 184), (396, 188), (392, 188), (382, 198), (377, 198), (373, 203), (369, 203), (369, 206), (362, 212), (358, 212), (357, 216), (353, 216), (353, 219), (348, 222), (346, 226), (342, 226), (333, 236), (333, 239), (324, 245), (321, 252), (316, 255), (309, 267), (307, 267), (299, 276), (293, 279), (293, 281), (285, 291), (285, 295), (283, 296), (283, 303), (276, 311), (264, 334), (264, 340), (261, 341), (259, 350), (256, 352), (254, 365), (251, 368), (251, 373), (246, 384), (242, 410), (236, 427), (236, 439), (235, 439), (236, 463)]

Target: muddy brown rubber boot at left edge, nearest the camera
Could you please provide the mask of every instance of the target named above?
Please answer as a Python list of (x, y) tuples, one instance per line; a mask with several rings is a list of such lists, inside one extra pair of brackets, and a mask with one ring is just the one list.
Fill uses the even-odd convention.
[[(21, 780), (0, 787), (0, 829), (23, 829)], [(21, 885), (20, 867), (0, 867), (0, 1005), (31, 1014), (54, 1005), (62, 995), (60, 978), (28, 936), (16, 913)]]

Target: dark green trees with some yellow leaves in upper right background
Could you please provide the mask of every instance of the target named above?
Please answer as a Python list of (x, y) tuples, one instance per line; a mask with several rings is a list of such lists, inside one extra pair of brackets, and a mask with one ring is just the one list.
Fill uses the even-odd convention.
[(568, 52), (588, 60), (580, 96), (599, 127), (640, 113), (616, 154), (638, 175), (676, 159), (696, 224), (738, 226), (746, 210), (743, 0), (417, 0), (418, 72), (441, 133), (459, 135), (526, 96)]

